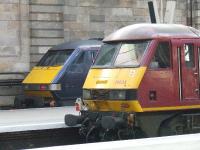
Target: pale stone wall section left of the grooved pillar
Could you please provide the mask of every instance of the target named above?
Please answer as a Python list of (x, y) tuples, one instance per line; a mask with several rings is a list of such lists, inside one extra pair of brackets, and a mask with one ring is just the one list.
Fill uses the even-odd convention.
[(29, 42), (28, 1), (1, 1), (0, 73), (29, 71)]

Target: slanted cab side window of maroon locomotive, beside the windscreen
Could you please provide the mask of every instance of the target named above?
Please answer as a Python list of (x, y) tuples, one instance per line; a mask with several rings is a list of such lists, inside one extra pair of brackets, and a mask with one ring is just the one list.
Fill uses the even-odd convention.
[(150, 69), (169, 68), (170, 67), (170, 44), (169, 42), (160, 42), (156, 48), (154, 57), (150, 63)]

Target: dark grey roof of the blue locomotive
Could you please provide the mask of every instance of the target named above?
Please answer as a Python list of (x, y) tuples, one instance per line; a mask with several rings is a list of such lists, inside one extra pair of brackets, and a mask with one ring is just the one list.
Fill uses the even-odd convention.
[(67, 49), (76, 49), (80, 46), (96, 46), (102, 45), (102, 41), (100, 40), (77, 40), (73, 42), (65, 42), (58, 44), (52, 47), (50, 50), (67, 50)]

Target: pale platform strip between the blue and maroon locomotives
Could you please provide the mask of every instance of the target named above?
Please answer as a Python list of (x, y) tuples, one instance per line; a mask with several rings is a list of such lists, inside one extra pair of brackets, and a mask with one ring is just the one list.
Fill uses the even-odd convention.
[(74, 106), (0, 110), (0, 133), (67, 128), (65, 114), (76, 114)]

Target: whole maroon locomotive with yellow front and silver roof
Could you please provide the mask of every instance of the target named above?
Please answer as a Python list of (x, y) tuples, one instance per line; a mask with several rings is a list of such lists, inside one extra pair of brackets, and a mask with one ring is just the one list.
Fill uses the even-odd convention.
[(87, 110), (74, 117), (90, 118), (86, 139), (199, 132), (199, 36), (184, 25), (135, 24), (106, 37), (83, 86)]

